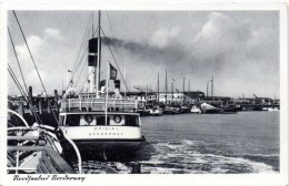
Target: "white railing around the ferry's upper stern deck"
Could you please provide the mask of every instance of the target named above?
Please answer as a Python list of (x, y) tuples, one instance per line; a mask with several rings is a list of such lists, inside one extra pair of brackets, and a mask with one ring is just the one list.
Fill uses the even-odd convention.
[[(109, 99), (108, 110), (133, 111), (138, 108), (137, 100)], [(61, 112), (69, 111), (106, 111), (106, 99), (67, 99), (61, 101)]]

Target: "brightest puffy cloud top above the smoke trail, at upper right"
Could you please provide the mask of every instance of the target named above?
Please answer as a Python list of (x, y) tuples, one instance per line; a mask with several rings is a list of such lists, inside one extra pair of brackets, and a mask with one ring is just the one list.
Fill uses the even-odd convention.
[(250, 25), (247, 22), (235, 22), (223, 13), (212, 12), (193, 39), (193, 55), (205, 63), (213, 60), (217, 68), (229, 55), (242, 53), (249, 39)]

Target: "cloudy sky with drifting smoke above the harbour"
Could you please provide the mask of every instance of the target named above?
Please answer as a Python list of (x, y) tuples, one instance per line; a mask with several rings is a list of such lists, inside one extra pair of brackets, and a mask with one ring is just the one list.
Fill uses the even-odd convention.
[[(66, 86), (68, 70), (81, 90), (88, 78), (88, 40), (98, 11), (16, 11), (37, 68), (49, 94)], [(42, 87), (12, 12), (8, 27), (28, 85), (36, 93)], [(101, 53), (101, 79), (108, 62), (127, 84), (165, 90), (207, 91), (213, 76), (213, 94), (231, 97), (279, 97), (279, 13), (278, 11), (102, 11), (106, 34)], [(101, 33), (103, 37), (103, 34)], [(9, 38), (8, 38), (9, 40)], [(81, 56), (83, 60), (81, 61)], [(20, 79), (16, 56), (8, 42), (8, 62)], [(83, 70), (82, 70), (83, 69)], [(82, 72), (82, 73), (80, 73)], [(121, 79), (118, 73), (118, 79)], [(173, 81), (175, 80), (175, 81)], [(190, 82), (190, 83), (189, 83)], [(11, 78), (9, 94), (19, 94)], [(124, 85), (121, 84), (123, 90)]]

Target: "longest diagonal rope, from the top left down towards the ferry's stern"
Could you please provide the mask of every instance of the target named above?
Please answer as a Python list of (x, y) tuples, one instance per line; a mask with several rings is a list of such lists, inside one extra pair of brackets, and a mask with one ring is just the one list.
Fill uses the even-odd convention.
[(53, 114), (53, 117), (54, 117), (56, 122), (58, 123), (58, 118), (57, 118), (56, 113), (54, 113), (54, 111), (53, 111), (53, 108), (52, 108), (52, 105), (50, 104), (50, 101), (49, 101), (49, 97), (48, 97), (48, 94), (47, 94), (47, 90), (46, 90), (44, 84), (43, 84), (43, 82), (42, 82), (42, 79), (41, 79), (41, 76), (40, 76), (40, 74), (39, 74), (39, 71), (38, 71), (38, 68), (37, 68), (37, 65), (36, 65), (34, 59), (33, 59), (33, 56), (32, 56), (32, 53), (31, 53), (30, 48), (29, 48), (29, 45), (28, 45), (28, 42), (27, 42), (27, 40), (26, 40), (26, 35), (24, 35), (24, 33), (23, 33), (23, 30), (22, 30), (22, 28), (21, 28), (21, 25), (20, 25), (20, 22), (18, 21), (18, 18), (17, 18), (17, 14), (16, 14), (14, 10), (13, 10), (12, 12), (13, 12), (14, 18), (16, 18), (16, 20), (17, 20), (17, 23), (18, 23), (18, 25), (19, 25), (19, 29), (20, 29), (20, 31), (21, 31), (21, 33), (22, 33), (23, 40), (24, 40), (24, 42), (26, 42), (26, 46), (27, 46), (27, 49), (28, 49), (28, 52), (29, 52), (29, 54), (30, 54), (30, 58), (31, 58), (31, 60), (32, 60), (32, 62), (33, 62), (33, 65), (34, 65), (34, 68), (36, 68), (38, 78), (39, 78), (39, 80), (40, 80), (40, 83), (41, 83), (41, 85), (42, 85), (42, 87), (43, 87), (43, 91), (44, 91), (44, 93), (46, 93), (46, 97), (47, 97), (47, 100), (48, 100), (48, 105), (49, 105), (49, 107), (50, 107), (51, 111), (52, 111), (52, 114)]

